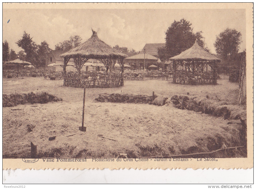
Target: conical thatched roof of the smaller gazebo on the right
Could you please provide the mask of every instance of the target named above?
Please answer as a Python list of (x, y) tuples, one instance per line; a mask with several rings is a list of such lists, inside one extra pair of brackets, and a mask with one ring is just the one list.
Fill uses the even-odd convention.
[(183, 60), (183, 61), (214, 61), (220, 62), (221, 60), (210, 53), (206, 52), (202, 47), (198, 45), (198, 42), (194, 43), (192, 47), (183, 51), (177, 56), (173, 56), (170, 60)]

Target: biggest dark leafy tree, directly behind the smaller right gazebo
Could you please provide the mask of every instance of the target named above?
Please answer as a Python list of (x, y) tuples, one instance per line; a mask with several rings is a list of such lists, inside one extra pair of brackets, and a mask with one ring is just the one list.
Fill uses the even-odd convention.
[[(184, 18), (180, 21), (174, 20), (170, 27), (165, 32), (166, 37), (166, 48), (161, 49), (159, 54), (162, 60), (169, 59), (170, 57), (176, 56), (184, 50), (192, 47), (196, 39), (201, 47), (204, 47), (204, 41), (202, 31), (193, 33), (191, 23)], [(164, 55), (164, 56), (162, 56)], [(161, 60), (160, 58), (160, 60)]]

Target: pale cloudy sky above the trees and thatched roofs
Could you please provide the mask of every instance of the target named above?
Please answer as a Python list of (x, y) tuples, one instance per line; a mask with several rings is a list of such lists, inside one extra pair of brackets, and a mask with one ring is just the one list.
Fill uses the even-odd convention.
[(241, 32), (239, 52), (246, 47), (245, 9), (3, 9), (3, 41), (18, 53), (22, 49), (15, 42), (26, 31), (36, 44), (45, 40), (54, 49), (71, 35), (85, 42), (92, 28), (112, 47), (139, 51), (146, 43), (165, 43), (167, 28), (181, 18), (190, 21), (194, 33), (203, 32), (211, 53), (216, 53), (216, 35), (226, 28)]

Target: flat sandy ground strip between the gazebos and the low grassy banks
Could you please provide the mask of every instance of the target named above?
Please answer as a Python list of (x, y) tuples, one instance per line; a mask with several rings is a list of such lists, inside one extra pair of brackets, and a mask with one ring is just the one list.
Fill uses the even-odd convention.
[[(187, 94), (203, 96), (209, 95), (210, 98), (216, 100), (225, 100), (232, 104), (238, 103), (239, 84), (228, 82), (228, 76), (221, 76), (218, 79), (217, 85), (179, 85), (173, 84), (172, 79), (162, 81), (162, 79), (145, 79), (145, 81), (124, 81), (124, 86), (119, 88), (108, 89), (86, 89), (86, 100), (93, 101), (99, 93), (133, 93), (133, 94), (148, 94), (152, 91), (155, 94), (171, 97), (175, 94)], [(31, 91), (45, 91), (50, 94), (57, 95), (63, 98), (66, 102), (76, 102), (83, 100), (83, 89), (64, 87), (62, 80), (44, 80), (43, 77), (32, 78), (25, 77), (24, 79), (6, 79), (3, 78), (3, 93), (28, 93)]]

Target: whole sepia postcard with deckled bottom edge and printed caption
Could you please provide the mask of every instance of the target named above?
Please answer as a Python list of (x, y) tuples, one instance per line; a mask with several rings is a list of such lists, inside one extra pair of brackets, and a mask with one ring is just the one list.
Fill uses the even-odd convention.
[(253, 167), (253, 3), (3, 3), (3, 169)]

